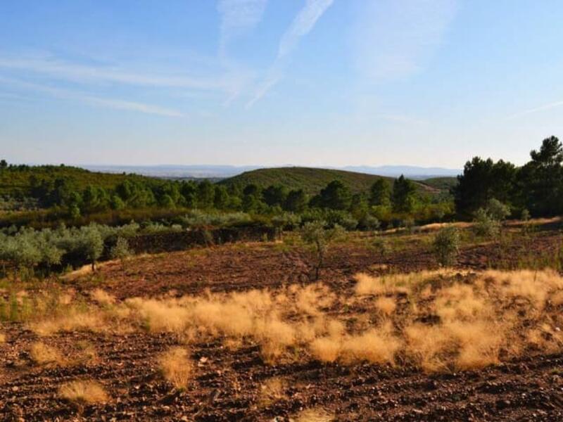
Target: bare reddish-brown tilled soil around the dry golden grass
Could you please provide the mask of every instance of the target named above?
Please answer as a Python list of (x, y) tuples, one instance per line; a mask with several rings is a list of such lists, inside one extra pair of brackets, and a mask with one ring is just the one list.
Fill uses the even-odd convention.
[[(558, 234), (526, 243), (538, 253), (558, 250)], [(517, 264), (509, 245), (507, 264)], [(557, 249), (556, 249), (557, 248)], [(498, 245), (462, 251), (463, 267), (491, 264)], [(504, 255), (503, 255), (504, 256)], [(339, 245), (329, 254), (321, 281), (346, 290), (358, 271), (377, 272), (381, 264), (401, 271), (430, 269), (429, 251), (411, 248), (379, 257), (358, 245)], [(170, 293), (275, 288), (307, 283), (310, 255), (282, 251), (279, 245), (226, 245), (197, 252), (175, 252), (108, 264), (92, 281), (75, 288), (102, 287), (119, 299)], [(101, 280), (101, 282), (100, 282)], [(101, 283), (101, 284), (100, 284)], [(177, 344), (170, 334), (63, 333), (44, 341), (72, 355), (87, 341), (98, 359), (89, 364), (37, 366), (30, 362), (30, 343), (37, 335), (21, 324), (4, 323), (0, 343), (0, 420), (2, 421), (287, 421), (301, 409), (321, 407), (338, 421), (562, 421), (563, 354), (524, 357), (481, 371), (427, 375), (414, 368), (373, 364), (302, 362), (268, 365), (258, 347), (234, 352), (222, 343), (198, 343), (191, 358), (199, 362), (184, 392), (163, 381), (156, 356)], [(204, 359), (202, 359), (204, 358)], [(260, 404), (261, 385), (269, 378), (286, 381), (284, 398)], [(57, 397), (61, 383), (96, 379), (108, 391), (107, 404), (77, 407)], [(274, 419), (277, 418), (277, 419)]]

